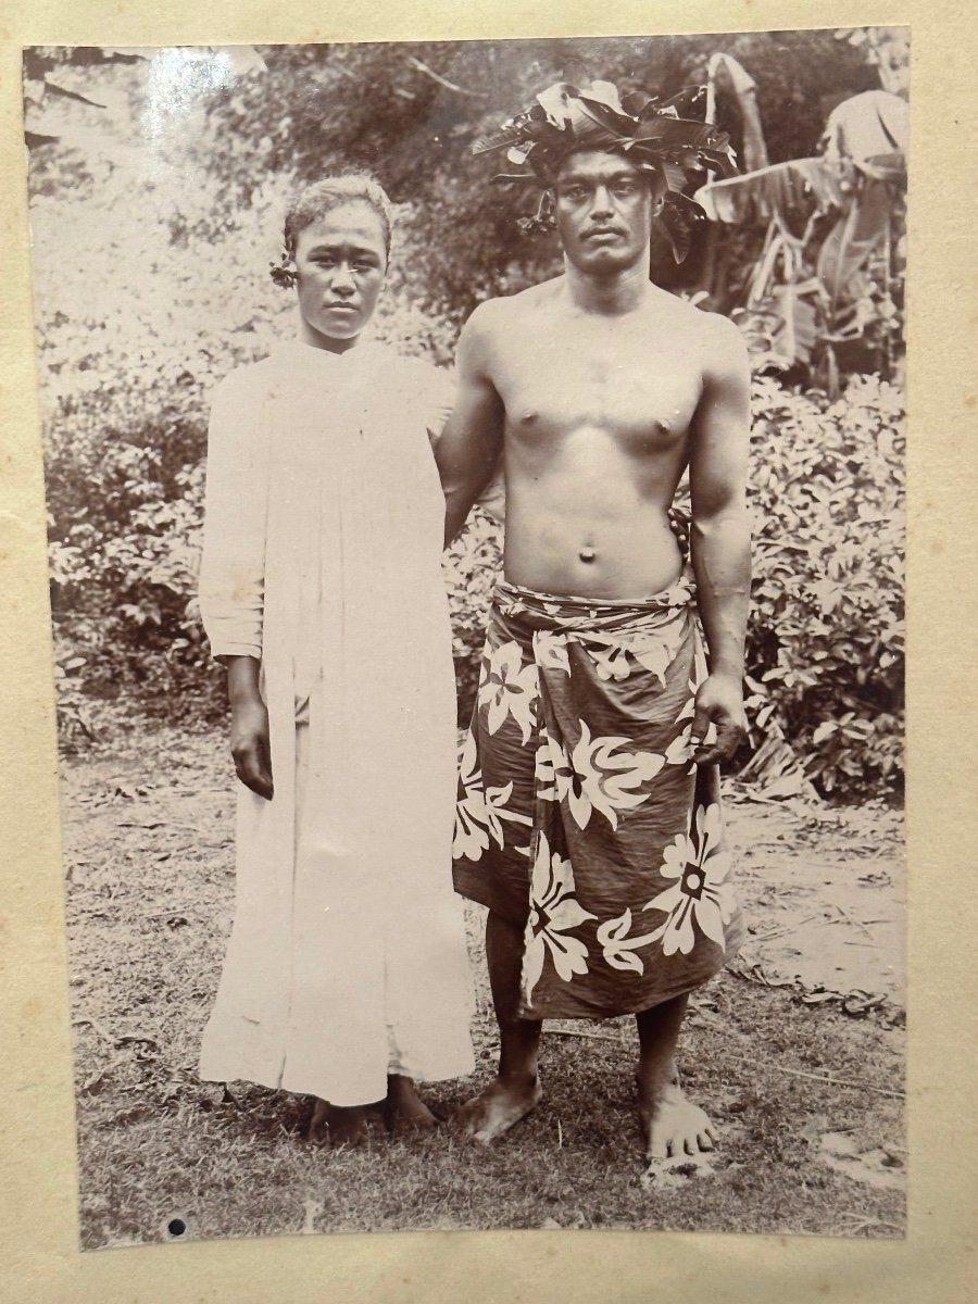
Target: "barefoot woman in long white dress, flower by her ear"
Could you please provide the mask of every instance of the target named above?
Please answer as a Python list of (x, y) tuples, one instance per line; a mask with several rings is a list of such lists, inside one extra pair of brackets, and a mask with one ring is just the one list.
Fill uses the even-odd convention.
[(390, 203), (342, 176), (304, 190), (274, 271), (299, 338), (218, 387), (201, 610), (227, 665), (237, 900), (201, 1076), (432, 1125), (415, 1080), (472, 1071), (451, 891), (455, 691), (429, 439), (441, 373), (364, 343)]

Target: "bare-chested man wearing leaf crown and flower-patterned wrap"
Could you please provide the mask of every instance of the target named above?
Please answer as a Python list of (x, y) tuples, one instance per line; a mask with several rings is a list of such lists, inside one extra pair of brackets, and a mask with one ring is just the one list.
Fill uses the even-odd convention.
[[(748, 370), (737, 329), (648, 266), (656, 219), (689, 211), (681, 168), (729, 149), (606, 82), (550, 87), (499, 143), (541, 183), (565, 271), (472, 314), (437, 449), (449, 540), (499, 458), (506, 485), (455, 840), (501, 1055), (462, 1124), (489, 1142), (533, 1108), (542, 1018), (635, 1013), (647, 1155), (689, 1162), (715, 1133), (679, 1028), (742, 932), (716, 764), (745, 737)], [(668, 519), (686, 471), (695, 584)]]

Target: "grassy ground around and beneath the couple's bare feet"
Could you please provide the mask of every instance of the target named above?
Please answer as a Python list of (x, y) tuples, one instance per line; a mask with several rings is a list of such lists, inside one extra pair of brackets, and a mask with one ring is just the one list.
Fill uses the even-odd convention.
[[(687, 1090), (722, 1129), (711, 1175), (664, 1184), (643, 1172), (627, 1020), (548, 1025), (544, 1102), (494, 1149), (447, 1129), (387, 1138), (378, 1120), (368, 1148), (334, 1153), (303, 1140), (308, 1102), (196, 1078), (233, 902), (223, 738), (141, 721), (107, 737), (64, 768), (83, 1245), (167, 1239), (175, 1219), (194, 1237), (554, 1226), (902, 1234), (900, 994), (889, 940), (874, 931), (892, 911), (863, 909), (898, 872), (892, 814), (792, 814), (743, 794), (732, 806), (756, 940), (696, 994), (681, 1060)], [(445, 1115), (494, 1063), (476, 910), (469, 922), (479, 1068), (425, 1089)], [(850, 957), (862, 966), (853, 973)], [(866, 996), (874, 964), (879, 999), (853, 1004), (854, 974)]]

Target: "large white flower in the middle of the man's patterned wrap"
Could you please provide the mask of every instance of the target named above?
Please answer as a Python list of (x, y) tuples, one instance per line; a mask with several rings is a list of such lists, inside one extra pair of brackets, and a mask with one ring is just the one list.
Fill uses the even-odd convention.
[(629, 751), (629, 739), (592, 738), (587, 721), (570, 754), (548, 732), (536, 756), (537, 795), (566, 801), (579, 828), (587, 828), (593, 811), (618, 827), (618, 811), (634, 810), (648, 795), (643, 784), (655, 778), (665, 756), (653, 751)]

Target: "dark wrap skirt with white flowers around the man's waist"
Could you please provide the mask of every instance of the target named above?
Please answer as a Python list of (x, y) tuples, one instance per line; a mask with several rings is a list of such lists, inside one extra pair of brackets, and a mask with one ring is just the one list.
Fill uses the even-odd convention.
[(528, 1018), (648, 1009), (738, 949), (687, 572), (642, 602), (502, 582), (462, 750), (455, 888), (524, 927)]

